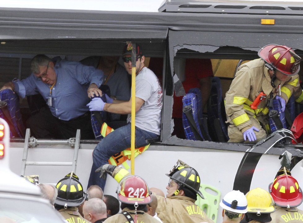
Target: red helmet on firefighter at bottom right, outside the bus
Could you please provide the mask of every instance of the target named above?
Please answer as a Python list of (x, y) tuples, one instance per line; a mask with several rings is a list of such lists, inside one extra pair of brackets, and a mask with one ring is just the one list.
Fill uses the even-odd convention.
[(280, 175), (269, 185), (274, 203), (280, 207), (297, 207), (302, 203), (302, 190), (298, 181), (290, 175)]

